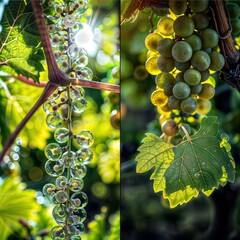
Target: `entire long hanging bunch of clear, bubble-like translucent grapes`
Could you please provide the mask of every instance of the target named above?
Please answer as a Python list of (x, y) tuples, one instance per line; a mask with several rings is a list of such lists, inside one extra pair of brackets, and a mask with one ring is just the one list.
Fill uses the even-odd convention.
[[(48, 25), (52, 48), (61, 70), (69, 77), (92, 80), (92, 70), (88, 64), (88, 56), (77, 39), (82, 14), (88, 9), (88, 1), (68, 1), (60, 4), (50, 2), (55, 15), (48, 16), (54, 24)], [(60, 110), (67, 106), (67, 117)], [(87, 195), (82, 191), (86, 175), (86, 165), (93, 158), (90, 149), (94, 142), (93, 134), (82, 130), (78, 134), (72, 131), (72, 113), (81, 114), (87, 107), (85, 92), (82, 87), (67, 86), (58, 89), (43, 105), (47, 113), (46, 123), (54, 129), (56, 143), (45, 147), (47, 162), (45, 169), (48, 175), (56, 178), (55, 183), (43, 187), (43, 193), (55, 204), (52, 215), (58, 224), (51, 230), (53, 239), (80, 239), (84, 232)], [(72, 151), (72, 140), (79, 146), (77, 152)]]

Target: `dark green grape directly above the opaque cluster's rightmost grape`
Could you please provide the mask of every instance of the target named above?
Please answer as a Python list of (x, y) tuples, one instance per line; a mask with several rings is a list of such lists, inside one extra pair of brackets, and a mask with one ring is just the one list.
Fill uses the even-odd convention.
[(218, 34), (212, 28), (206, 28), (200, 33), (203, 48), (214, 48), (218, 45)]

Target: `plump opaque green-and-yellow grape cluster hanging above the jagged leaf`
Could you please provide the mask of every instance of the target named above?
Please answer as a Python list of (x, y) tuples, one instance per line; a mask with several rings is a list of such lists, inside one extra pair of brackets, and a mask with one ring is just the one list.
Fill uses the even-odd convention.
[(169, 6), (171, 15), (161, 18), (145, 39), (145, 66), (156, 75), (151, 102), (161, 115), (207, 114), (215, 94), (210, 74), (225, 64), (207, 15), (209, 1), (170, 0)]

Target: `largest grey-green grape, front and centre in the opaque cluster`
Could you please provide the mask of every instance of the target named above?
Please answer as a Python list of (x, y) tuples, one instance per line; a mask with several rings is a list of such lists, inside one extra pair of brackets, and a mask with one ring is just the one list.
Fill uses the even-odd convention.
[(189, 43), (178, 41), (172, 48), (172, 56), (178, 62), (187, 62), (192, 57), (192, 48)]

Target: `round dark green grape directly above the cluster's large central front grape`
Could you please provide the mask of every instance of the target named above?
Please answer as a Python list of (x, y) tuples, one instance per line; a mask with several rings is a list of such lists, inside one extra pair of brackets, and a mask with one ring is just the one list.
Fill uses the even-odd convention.
[(188, 16), (178, 17), (173, 24), (174, 32), (179, 37), (188, 37), (194, 32), (194, 22)]

